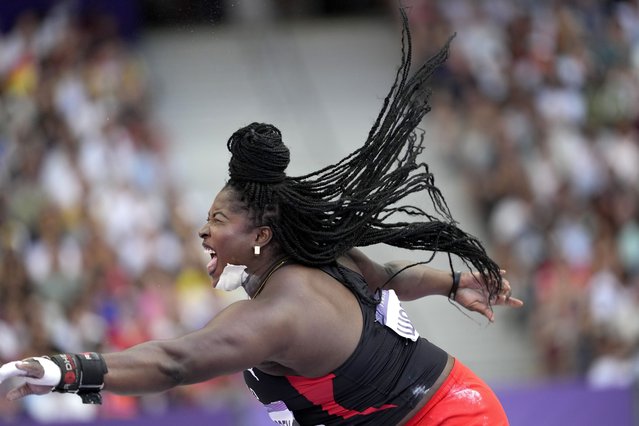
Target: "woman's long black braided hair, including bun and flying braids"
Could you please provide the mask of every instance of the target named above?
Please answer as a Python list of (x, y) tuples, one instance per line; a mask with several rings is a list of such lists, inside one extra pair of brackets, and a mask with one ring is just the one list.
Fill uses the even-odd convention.
[[(275, 244), (298, 263), (326, 265), (353, 247), (378, 243), (432, 252), (414, 265), (445, 252), (451, 270), (455, 255), (482, 274), (491, 300), (501, 289), (498, 265), (477, 238), (458, 228), (428, 165), (418, 161), (424, 132), (417, 126), (430, 111), (425, 83), (447, 59), (452, 37), (409, 75), (410, 31), (403, 10), (401, 16), (401, 64), (362, 147), (335, 165), (289, 177), (290, 153), (281, 132), (270, 124), (252, 123), (228, 141), (227, 187), (238, 192), (256, 225), (273, 229)], [(427, 194), (436, 216), (398, 204), (413, 193)], [(414, 220), (396, 220), (400, 215)]]

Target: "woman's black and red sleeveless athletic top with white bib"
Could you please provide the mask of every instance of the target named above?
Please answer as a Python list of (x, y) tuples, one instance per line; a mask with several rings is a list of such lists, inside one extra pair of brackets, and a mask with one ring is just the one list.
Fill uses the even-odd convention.
[[(316, 378), (273, 376), (251, 368), (244, 380), (281, 425), (394, 425), (423, 398), (443, 371), (448, 355), (420, 338), (394, 292), (384, 290), (370, 306), (364, 278), (337, 264), (320, 268), (357, 297), (364, 325), (350, 357)], [(346, 282), (345, 282), (346, 281)]]

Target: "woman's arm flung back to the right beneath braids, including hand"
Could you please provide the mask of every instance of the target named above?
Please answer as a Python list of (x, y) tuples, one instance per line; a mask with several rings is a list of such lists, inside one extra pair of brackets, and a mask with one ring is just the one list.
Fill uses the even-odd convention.
[[(380, 287), (393, 289), (403, 301), (432, 295), (448, 296), (453, 284), (450, 271), (414, 265), (414, 262), (405, 260), (395, 260), (381, 265), (359, 249), (350, 250), (347, 256), (357, 265), (372, 291)], [(411, 267), (406, 268), (407, 266)], [(481, 279), (477, 272), (462, 272), (455, 301), (466, 309), (481, 313), (491, 321), (494, 319), (491, 306), (505, 305), (518, 308), (523, 305), (520, 299), (511, 296), (510, 282), (503, 277), (502, 291), (489, 303)]]

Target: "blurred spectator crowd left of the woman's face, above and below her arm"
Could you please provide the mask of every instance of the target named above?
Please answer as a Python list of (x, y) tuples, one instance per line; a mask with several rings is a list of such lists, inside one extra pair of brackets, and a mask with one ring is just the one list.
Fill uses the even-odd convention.
[[(112, 19), (70, 3), (24, 12), (0, 38), (0, 363), (176, 336), (228, 303), (210, 289), (133, 52)], [(236, 381), (106, 394), (101, 407), (0, 398), (0, 423), (211, 406), (234, 398)]]

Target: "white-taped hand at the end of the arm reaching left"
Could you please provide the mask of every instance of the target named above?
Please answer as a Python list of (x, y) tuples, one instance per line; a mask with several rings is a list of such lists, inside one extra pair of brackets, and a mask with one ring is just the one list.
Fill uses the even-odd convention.
[[(47, 365), (45, 369), (42, 362), (51, 363), (51, 365)], [(0, 383), (11, 377), (26, 379), (25, 383), (7, 393), (7, 399), (10, 401), (27, 395), (44, 395), (51, 392), (60, 381), (60, 375), (60, 369), (52, 361), (43, 358), (27, 358), (6, 363), (0, 367)]]

